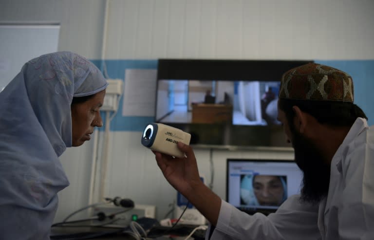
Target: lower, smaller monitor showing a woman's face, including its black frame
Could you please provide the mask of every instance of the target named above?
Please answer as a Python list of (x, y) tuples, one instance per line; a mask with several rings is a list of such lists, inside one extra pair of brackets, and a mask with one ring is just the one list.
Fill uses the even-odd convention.
[(275, 212), (299, 194), (302, 172), (290, 160), (227, 159), (226, 202), (248, 214)]

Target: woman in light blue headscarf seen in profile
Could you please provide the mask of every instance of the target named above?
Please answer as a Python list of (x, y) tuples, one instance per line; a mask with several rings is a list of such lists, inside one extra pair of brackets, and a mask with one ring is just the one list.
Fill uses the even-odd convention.
[(49, 239), (69, 185), (58, 157), (102, 126), (107, 85), (86, 58), (57, 52), (28, 61), (0, 92), (0, 239)]

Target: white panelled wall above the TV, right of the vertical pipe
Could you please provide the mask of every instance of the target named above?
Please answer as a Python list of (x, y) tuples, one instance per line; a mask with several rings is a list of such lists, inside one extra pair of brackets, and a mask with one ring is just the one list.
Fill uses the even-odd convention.
[(110, 59), (373, 59), (373, 0), (112, 0)]

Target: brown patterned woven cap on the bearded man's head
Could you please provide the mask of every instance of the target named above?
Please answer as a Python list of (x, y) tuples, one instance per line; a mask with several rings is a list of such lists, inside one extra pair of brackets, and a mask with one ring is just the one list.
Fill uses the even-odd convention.
[(279, 98), (353, 102), (352, 77), (336, 68), (308, 63), (283, 74)]

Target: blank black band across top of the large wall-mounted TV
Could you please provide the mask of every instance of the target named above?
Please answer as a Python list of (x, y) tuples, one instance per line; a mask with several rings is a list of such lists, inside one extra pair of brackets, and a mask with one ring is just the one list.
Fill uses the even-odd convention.
[(157, 80), (281, 81), (286, 71), (313, 60), (158, 59)]

